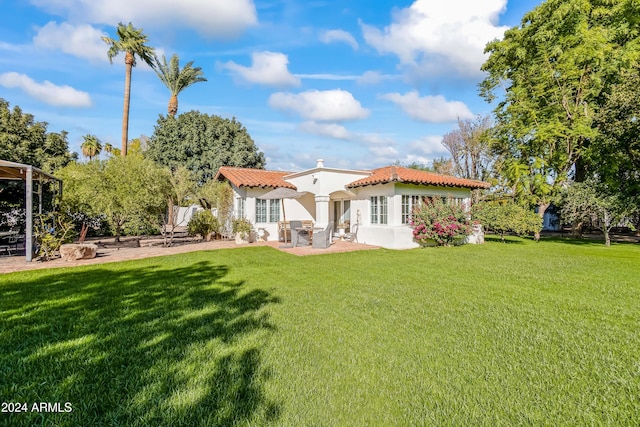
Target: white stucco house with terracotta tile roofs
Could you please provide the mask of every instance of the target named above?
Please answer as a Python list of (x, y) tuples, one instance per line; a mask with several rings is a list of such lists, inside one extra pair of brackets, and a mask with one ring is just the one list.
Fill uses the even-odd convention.
[[(360, 243), (391, 249), (417, 247), (408, 225), (412, 208), (423, 197), (453, 198), (470, 206), (471, 190), (489, 188), (482, 181), (440, 175), (400, 166), (348, 170), (324, 166), (302, 172), (281, 172), (223, 166), (215, 179), (231, 184), (234, 215), (278, 240), (282, 203), (289, 220), (311, 220), (315, 227), (330, 222), (358, 224)], [(267, 200), (260, 196), (274, 188), (291, 188), (305, 195), (297, 199)]]

